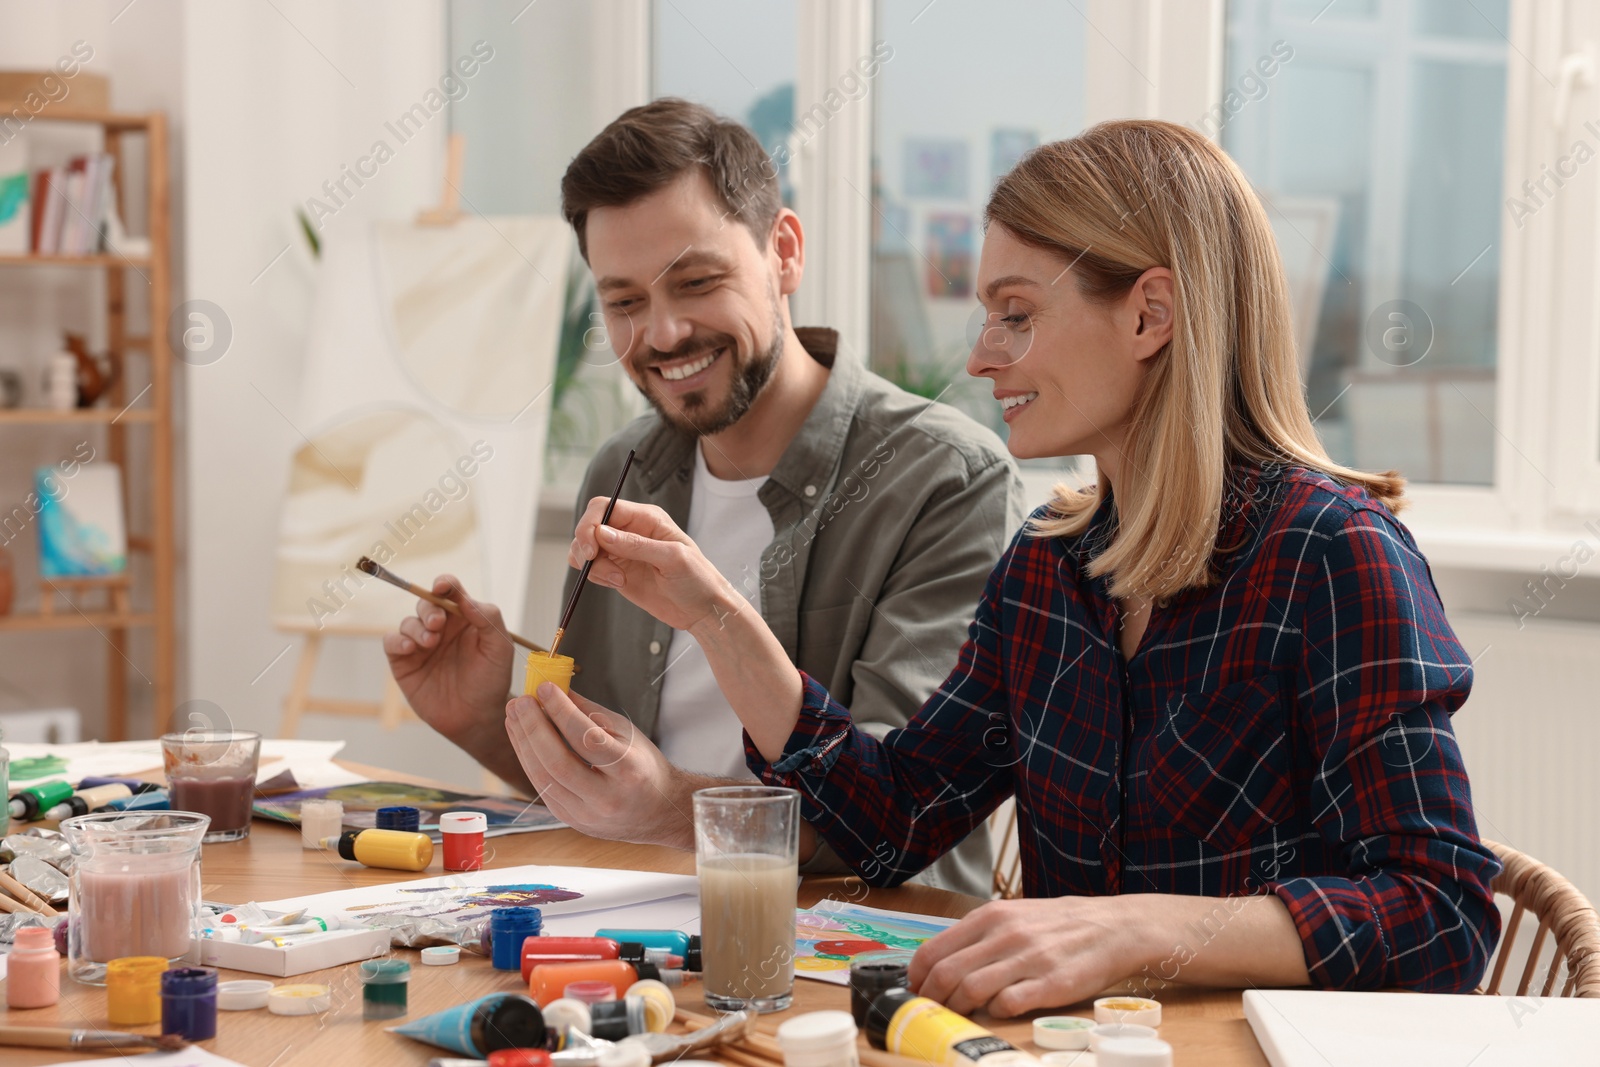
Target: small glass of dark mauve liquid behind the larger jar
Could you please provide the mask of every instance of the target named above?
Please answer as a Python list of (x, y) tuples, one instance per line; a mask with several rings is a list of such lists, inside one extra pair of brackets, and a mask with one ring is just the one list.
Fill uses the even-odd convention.
[(250, 837), (261, 734), (251, 729), (186, 729), (162, 734), (162, 763), (173, 811), (211, 816), (206, 845)]

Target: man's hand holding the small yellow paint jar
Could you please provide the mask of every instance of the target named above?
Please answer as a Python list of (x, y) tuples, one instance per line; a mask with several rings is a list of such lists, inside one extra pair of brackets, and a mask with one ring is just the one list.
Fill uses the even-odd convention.
[(539, 800), (592, 837), (694, 848), (694, 790), (723, 784), (672, 766), (627, 718), (549, 681), (506, 705), (506, 734)]

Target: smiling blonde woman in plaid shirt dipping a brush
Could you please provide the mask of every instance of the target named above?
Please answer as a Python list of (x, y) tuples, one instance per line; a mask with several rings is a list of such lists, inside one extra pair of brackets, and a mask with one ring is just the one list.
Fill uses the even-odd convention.
[[(904, 729), (851, 726), (664, 514), (600, 528), (597, 501), (574, 565), (699, 638), (749, 766), (803, 795), (802, 849), (898, 885), (1016, 798), (1026, 899), (912, 966), (958, 1011), (1139, 974), (1472, 989), (1499, 917), (1450, 728), (1470, 662), (1402, 478), (1317, 442), (1243, 174), (1181, 126), (1106, 123), (1034, 150), (986, 214), (968, 373), (1016, 456), (1093, 454), (1099, 480), (1034, 514)], [(656, 771), (606, 779), (626, 723), (546, 686), (507, 728), (552, 803), (602, 779), (650, 803)]]

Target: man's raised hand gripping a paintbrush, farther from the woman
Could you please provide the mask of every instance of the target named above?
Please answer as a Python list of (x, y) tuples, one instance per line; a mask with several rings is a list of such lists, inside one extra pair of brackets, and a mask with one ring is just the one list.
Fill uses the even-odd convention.
[(477, 749), (485, 736), (499, 734), (512, 643), (499, 608), (469, 597), (453, 576), (435, 577), (434, 592), (461, 605), (461, 614), (418, 600), (416, 614), (384, 633), (389, 670), (422, 721), (485, 760)]

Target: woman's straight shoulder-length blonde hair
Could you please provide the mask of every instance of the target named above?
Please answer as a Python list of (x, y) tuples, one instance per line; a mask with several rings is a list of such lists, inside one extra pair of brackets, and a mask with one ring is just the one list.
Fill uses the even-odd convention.
[[(1122, 298), (1150, 267), (1173, 272), (1173, 339), (1130, 413), (1117, 534), (1090, 565), (1112, 576), (1114, 595), (1165, 598), (1216, 581), (1234, 462), (1322, 470), (1400, 510), (1398, 472), (1341, 467), (1317, 440), (1272, 227), (1245, 174), (1206, 138), (1128, 120), (1043, 144), (1000, 179), (984, 222), (1072, 264), (1094, 302)], [(1030, 533), (1082, 533), (1106, 491), (1104, 475), (1093, 490), (1058, 485)]]

